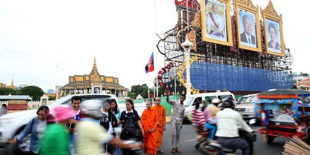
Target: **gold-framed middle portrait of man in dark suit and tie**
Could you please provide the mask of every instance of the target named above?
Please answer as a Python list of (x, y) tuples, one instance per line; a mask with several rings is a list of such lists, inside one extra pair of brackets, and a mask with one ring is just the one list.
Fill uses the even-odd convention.
[(251, 2), (249, 5), (239, 3), (238, 0), (234, 2), (236, 10), (236, 25), (238, 48), (247, 49), (251, 51), (261, 52), (261, 37), (258, 6), (255, 7)]

